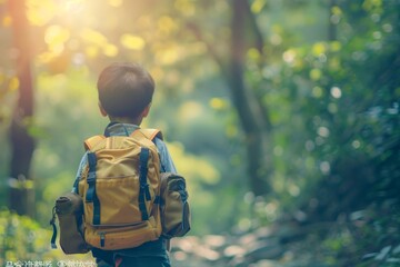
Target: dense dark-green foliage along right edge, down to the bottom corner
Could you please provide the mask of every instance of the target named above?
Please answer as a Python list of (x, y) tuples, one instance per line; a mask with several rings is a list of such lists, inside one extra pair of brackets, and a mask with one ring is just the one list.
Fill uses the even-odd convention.
[[(360, 266), (398, 264), (398, 8), (396, 1), (341, 2), (333, 7), (338, 39), (290, 47), (283, 65), (250, 77), (269, 85), (264, 101), (283, 172), (276, 178), (279, 202), (301, 224), (339, 221), (321, 239), (340, 266), (359, 264), (362, 254)], [(280, 75), (262, 76), (277, 68)], [(292, 197), (282, 198), (284, 190)], [(370, 214), (368, 224), (340, 227), (356, 210)]]

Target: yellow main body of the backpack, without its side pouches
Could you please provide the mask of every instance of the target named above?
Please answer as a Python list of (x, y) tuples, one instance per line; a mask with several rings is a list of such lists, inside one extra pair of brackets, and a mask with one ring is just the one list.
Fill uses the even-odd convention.
[(84, 141), (88, 167), (79, 181), (84, 240), (114, 250), (160, 237), (160, 159), (152, 139), (138, 129), (129, 137), (94, 136)]

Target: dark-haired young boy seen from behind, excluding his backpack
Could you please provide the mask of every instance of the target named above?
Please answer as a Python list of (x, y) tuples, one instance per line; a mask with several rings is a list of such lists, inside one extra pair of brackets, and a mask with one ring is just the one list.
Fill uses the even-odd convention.
[[(113, 63), (107, 67), (99, 77), (98, 83), (99, 108), (110, 123), (106, 128), (108, 136), (129, 136), (139, 128), (143, 118), (149, 113), (154, 81), (149, 72), (137, 63)], [(106, 135), (106, 136), (107, 136)], [(160, 170), (177, 172), (166, 144), (156, 138), (154, 144), (160, 155)], [(84, 155), (79, 169), (78, 179), (87, 166)], [(76, 189), (74, 189), (76, 191)], [(169, 267), (167, 243), (160, 237), (156, 241), (121, 250), (92, 249), (98, 266), (138, 266), (138, 267)]]

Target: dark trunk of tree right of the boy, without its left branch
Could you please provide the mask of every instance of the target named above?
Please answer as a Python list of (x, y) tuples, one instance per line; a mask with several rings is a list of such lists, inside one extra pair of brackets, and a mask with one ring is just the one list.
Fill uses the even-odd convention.
[[(272, 172), (272, 164), (267, 152), (267, 126), (269, 126), (269, 121), (264, 121), (266, 113), (260, 108), (254, 91), (248, 88), (243, 80), (244, 55), (248, 44), (244, 34), (246, 22), (253, 21), (253, 18), (250, 18), (252, 13), (247, 1), (233, 0), (232, 3), (230, 63), (227, 71), (229, 73), (228, 83), (246, 135), (250, 188), (256, 196), (262, 196), (270, 191), (268, 179)], [(252, 23), (252, 27), (257, 26)], [(252, 30), (254, 31), (254, 29)], [(254, 34), (258, 36), (257, 31)], [(257, 40), (257, 47), (261, 50), (260, 38)]]

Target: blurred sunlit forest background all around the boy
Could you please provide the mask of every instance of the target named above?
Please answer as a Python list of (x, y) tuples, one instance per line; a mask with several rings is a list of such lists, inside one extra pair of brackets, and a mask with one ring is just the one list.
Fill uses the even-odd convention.
[(111, 62), (186, 177), (172, 266), (400, 266), (399, 0), (0, 0), (0, 266), (51, 249)]

